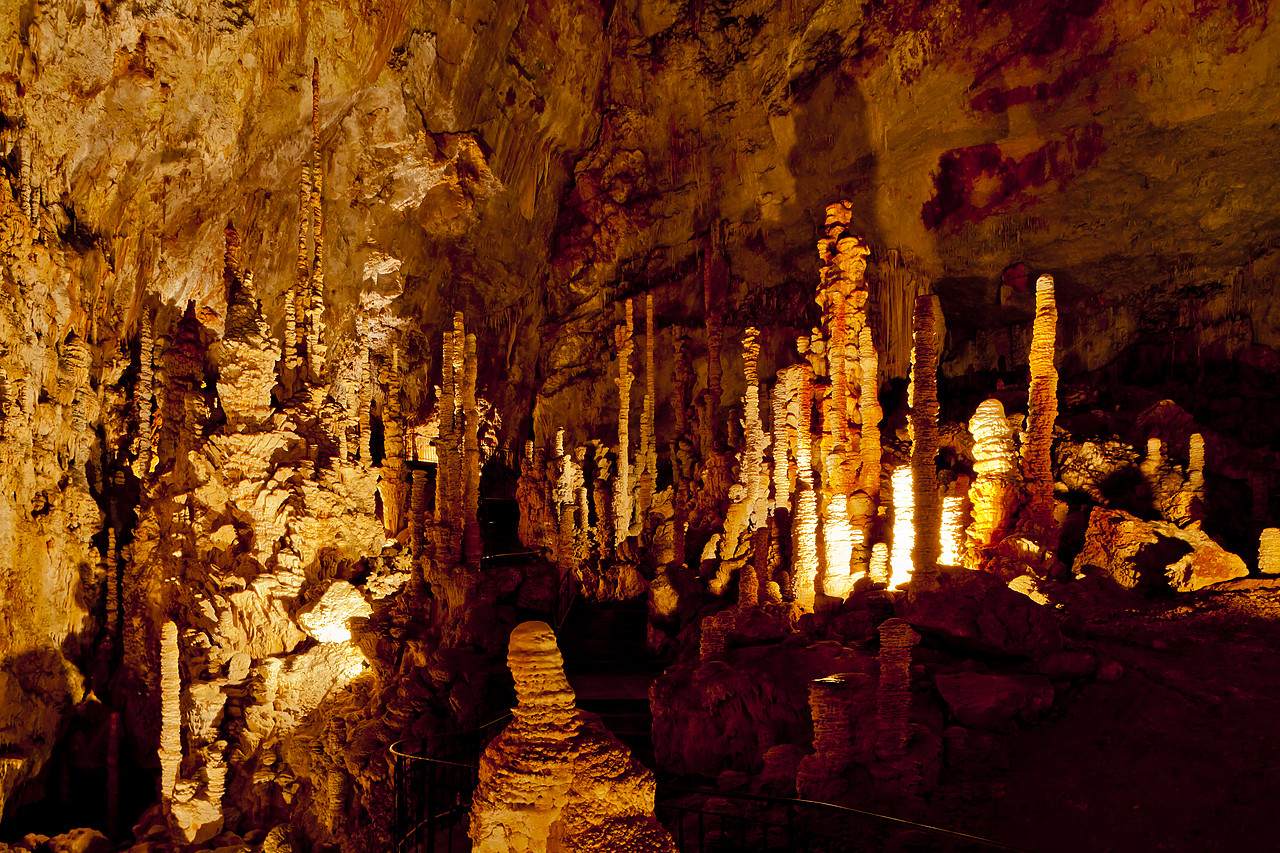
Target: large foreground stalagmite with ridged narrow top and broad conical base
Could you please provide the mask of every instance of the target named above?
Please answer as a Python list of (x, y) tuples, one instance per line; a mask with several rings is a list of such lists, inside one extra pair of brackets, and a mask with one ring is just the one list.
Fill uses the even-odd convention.
[(552, 629), (517, 626), (507, 662), (517, 704), (480, 760), (472, 850), (675, 853), (653, 813), (653, 774), (575, 708)]

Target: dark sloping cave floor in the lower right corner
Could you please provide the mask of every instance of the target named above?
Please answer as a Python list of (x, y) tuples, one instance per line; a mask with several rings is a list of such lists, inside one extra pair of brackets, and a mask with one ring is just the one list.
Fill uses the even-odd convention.
[(956, 797), (948, 825), (1038, 853), (1277, 849), (1280, 589), (1076, 616), (1124, 676), (1021, 729), (1009, 768)]

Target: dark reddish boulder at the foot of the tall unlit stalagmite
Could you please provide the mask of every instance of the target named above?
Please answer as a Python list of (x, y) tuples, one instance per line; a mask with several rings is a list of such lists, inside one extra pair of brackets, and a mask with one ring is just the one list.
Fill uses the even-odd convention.
[(911, 590), (902, 619), (916, 630), (966, 648), (1041, 657), (1062, 648), (1053, 611), (986, 571), (940, 566), (937, 587)]

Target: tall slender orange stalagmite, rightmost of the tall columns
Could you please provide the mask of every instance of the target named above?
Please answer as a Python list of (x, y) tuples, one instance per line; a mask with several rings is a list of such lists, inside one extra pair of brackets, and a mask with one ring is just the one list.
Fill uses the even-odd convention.
[(1027, 514), (1034, 542), (1041, 549), (1039, 571), (1057, 551), (1057, 523), (1053, 519), (1053, 470), (1050, 451), (1057, 421), (1057, 370), (1053, 350), (1057, 338), (1057, 305), (1053, 278), (1036, 279), (1036, 320), (1032, 327), (1030, 388), (1027, 398), (1028, 441), (1023, 450), (1023, 476), (1027, 480)]

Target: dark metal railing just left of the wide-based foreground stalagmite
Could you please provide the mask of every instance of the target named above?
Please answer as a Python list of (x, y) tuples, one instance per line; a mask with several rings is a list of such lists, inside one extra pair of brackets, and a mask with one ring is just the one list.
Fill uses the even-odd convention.
[(503, 715), (475, 729), (390, 745), (396, 784), (397, 853), (465, 853), (480, 756), (511, 721)]

